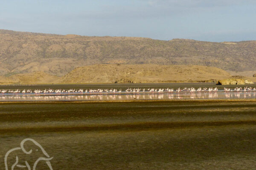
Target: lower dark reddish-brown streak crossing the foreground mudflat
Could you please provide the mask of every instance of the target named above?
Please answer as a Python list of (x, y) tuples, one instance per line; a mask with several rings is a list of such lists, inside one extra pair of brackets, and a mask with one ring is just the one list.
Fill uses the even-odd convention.
[(80, 126), (45, 126), (45, 127), (19, 127), (2, 128), (3, 133), (37, 133), (37, 132), (68, 132), (68, 131), (104, 131), (104, 130), (150, 130), (169, 128), (189, 128), (189, 127), (218, 127), (230, 125), (256, 125), (256, 121), (227, 121), (227, 122), (142, 122), (125, 123), (111, 125), (80, 125)]

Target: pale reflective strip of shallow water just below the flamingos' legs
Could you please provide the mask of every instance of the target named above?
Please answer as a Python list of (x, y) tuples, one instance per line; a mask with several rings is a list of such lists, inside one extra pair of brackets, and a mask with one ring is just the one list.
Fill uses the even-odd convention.
[(0, 102), (14, 101), (123, 101), (123, 100), (160, 100), (160, 99), (252, 99), (256, 98), (256, 91), (252, 92), (172, 92), (172, 93), (134, 93), (134, 94), (15, 94), (0, 95)]

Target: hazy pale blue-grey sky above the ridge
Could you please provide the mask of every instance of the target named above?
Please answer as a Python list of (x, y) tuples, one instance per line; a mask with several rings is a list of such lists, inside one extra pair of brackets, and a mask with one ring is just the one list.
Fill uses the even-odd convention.
[(159, 40), (256, 40), (256, 0), (1, 0), (0, 29)]

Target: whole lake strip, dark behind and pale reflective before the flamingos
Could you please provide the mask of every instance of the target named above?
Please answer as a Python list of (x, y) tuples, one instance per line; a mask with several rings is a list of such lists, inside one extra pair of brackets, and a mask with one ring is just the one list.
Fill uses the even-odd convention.
[[(248, 85), (249, 86), (249, 85)], [(179, 92), (176, 91), (168, 93), (152, 93), (152, 92), (142, 92), (145, 88), (214, 88), (217, 87), (218, 92)], [(11, 102), (11, 101), (124, 101), (124, 100), (168, 100), (168, 99), (251, 99), (256, 98), (256, 91), (251, 92), (224, 92), (224, 88), (244, 88), (246, 85), (215, 85), (214, 83), (156, 83), (156, 84), (91, 84), (91, 85), (2, 85), (1, 89), (7, 91), (20, 89), (30, 89), (34, 91), (36, 89), (111, 89), (116, 88), (118, 91), (122, 89), (121, 93), (63, 93), (63, 94), (2, 94), (0, 93), (0, 102)], [(250, 85), (250, 87), (255, 88), (256, 84)], [(127, 88), (140, 88), (139, 93), (126, 93)]]

